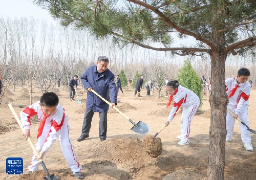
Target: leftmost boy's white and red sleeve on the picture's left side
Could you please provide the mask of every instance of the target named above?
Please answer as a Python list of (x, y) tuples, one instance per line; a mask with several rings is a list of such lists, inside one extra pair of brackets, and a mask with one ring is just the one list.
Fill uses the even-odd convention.
[(30, 106), (27, 106), (26, 109), (24, 109), (22, 112), (19, 113), (20, 115), (20, 121), (22, 122), (22, 125), (25, 130), (30, 129), (30, 118), (32, 116), (37, 115), (38, 108), (40, 107), (39, 103), (36, 102)]

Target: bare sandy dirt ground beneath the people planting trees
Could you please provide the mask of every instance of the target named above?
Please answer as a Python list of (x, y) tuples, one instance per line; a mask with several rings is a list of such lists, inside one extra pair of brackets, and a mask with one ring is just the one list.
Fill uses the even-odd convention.
[[(10, 88), (11, 89), (11, 88)], [(78, 87), (79, 89), (79, 87)], [(29, 103), (26, 88), (17, 87), (15, 92), (6, 93), (1, 99), (0, 106), (0, 179), (42, 179), (45, 172), (41, 170), (27, 174), (32, 150), (23, 139), (22, 132), (13, 119), (7, 103), (14, 105), (16, 113), (23, 110)], [(108, 134), (105, 142), (99, 140), (99, 115), (93, 117), (90, 138), (77, 142), (80, 136), (85, 103), (78, 104), (69, 100), (68, 89), (55, 89), (59, 95), (60, 104), (65, 107), (70, 117), (70, 139), (74, 145), (77, 159), (82, 165), (83, 179), (206, 179), (207, 159), (209, 150), (209, 111), (207, 97), (203, 99), (201, 115), (195, 116), (191, 123), (190, 141), (188, 146), (177, 145), (177, 136), (180, 135), (180, 118), (177, 115), (170, 125), (158, 135), (161, 138), (163, 151), (158, 158), (151, 158), (143, 149), (142, 140), (145, 135), (131, 131), (132, 124), (118, 113), (108, 114)], [(118, 106), (124, 114), (135, 122), (144, 121), (151, 127), (150, 134), (154, 135), (165, 123), (165, 97), (146, 97), (145, 89), (141, 98), (133, 97), (134, 90), (124, 89), (119, 94)], [(41, 93), (36, 90), (34, 102), (39, 100)], [(78, 90), (79, 99), (86, 99), (86, 93)], [(252, 89), (249, 106), (250, 127), (256, 129), (256, 89)], [(113, 110), (113, 109), (112, 109)], [(202, 114), (205, 113), (205, 114)], [(36, 119), (31, 125), (32, 141), (36, 142), (38, 123)], [(234, 127), (233, 141), (226, 143), (225, 179), (255, 179), (256, 177), (256, 136), (251, 134), (253, 152), (243, 147), (239, 125)], [(7, 175), (6, 159), (20, 157), (24, 160), (24, 175)], [(47, 153), (44, 162), (50, 173), (61, 179), (74, 179), (71, 170), (61, 153), (59, 142), (55, 142)], [(167, 176), (166, 176), (167, 175)], [(166, 176), (166, 177), (165, 177)]]

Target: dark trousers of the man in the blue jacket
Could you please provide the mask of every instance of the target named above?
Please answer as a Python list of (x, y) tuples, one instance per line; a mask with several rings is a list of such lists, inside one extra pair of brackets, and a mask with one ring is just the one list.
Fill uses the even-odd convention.
[[(99, 112), (99, 138), (106, 138), (106, 130), (107, 130), (107, 114), (108, 111)], [(84, 114), (83, 124), (82, 124), (82, 133), (81, 136), (89, 135), (92, 119), (93, 119), (94, 111), (86, 107), (86, 113)]]

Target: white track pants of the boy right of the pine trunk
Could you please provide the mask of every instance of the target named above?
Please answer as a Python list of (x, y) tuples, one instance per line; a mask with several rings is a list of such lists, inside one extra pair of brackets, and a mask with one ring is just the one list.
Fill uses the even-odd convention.
[[(234, 113), (234, 109), (230, 109), (230, 110)], [(244, 110), (238, 115), (239, 119), (241, 119), (247, 126), (249, 126), (249, 121), (247, 119), (247, 116), (248, 116), (248, 108), (244, 108)], [(227, 116), (226, 116), (227, 138), (232, 138), (234, 123), (236, 121), (237, 120), (235, 120), (233, 118), (233, 116), (227, 112)], [(243, 143), (251, 143), (250, 132), (247, 130), (247, 128), (240, 122), (239, 122), (239, 128), (240, 128), (240, 132), (241, 132), (242, 142)]]

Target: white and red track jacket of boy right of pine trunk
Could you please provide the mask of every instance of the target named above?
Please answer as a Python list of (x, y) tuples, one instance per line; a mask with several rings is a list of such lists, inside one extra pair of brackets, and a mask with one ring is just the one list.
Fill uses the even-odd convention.
[(239, 85), (239, 87), (236, 89), (236, 92), (228, 98), (229, 102), (227, 105), (227, 108), (234, 109), (234, 114), (239, 115), (243, 111), (244, 108), (247, 108), (249, 106), (249, 97), (251, 92), (251, 86), (248, 81), (245, 83), (238, 84), (237, 78), (228, 78), (225, 81), (226, 84), (226, 93), (229, 95), (231, 90), (236, 87), (236, 85)]

